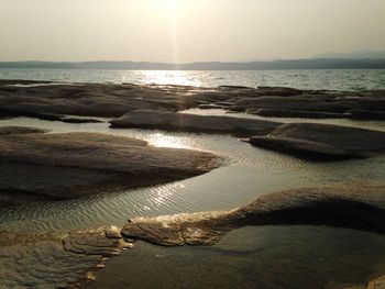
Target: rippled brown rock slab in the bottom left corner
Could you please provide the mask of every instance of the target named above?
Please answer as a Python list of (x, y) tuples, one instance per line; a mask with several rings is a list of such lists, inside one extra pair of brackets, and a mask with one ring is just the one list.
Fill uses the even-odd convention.
[(101, 227), (75, 233), (0, 232), (1, 288), (79, 288), (108, 258), (132, 247)]

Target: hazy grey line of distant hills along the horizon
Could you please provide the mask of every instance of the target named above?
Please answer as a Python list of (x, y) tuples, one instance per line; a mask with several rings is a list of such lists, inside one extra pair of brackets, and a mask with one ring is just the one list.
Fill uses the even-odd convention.
[(50, 62), (8, 62), (0, 63), (0, 68), (47, 68), (47, 69), (132, 69), (132, 70), (271, 70), (271, 69), (385, 69), (383, 58), (311, 58), (258, 60), (249, 63), (191, 63), (163, 64), (146, 62), (84, 62), (84, 63), (50, 63)]

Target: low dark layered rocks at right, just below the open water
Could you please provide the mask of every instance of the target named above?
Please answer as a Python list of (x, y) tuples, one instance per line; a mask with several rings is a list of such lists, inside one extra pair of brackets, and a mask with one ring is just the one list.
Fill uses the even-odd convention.
[[(286, 91), (286, 93), (285, 93)], [(383, 91), (327, 91), (258, 88), (233, 99), (232, 111), (261, 116), (384, 120)]]

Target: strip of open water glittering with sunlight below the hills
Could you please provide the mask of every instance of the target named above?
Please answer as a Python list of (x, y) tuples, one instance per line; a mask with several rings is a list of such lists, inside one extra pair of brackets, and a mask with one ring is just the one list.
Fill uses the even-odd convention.
[(99, 70), (0, 68), (0, 79), (57, 82), (113, 82), (187, 85), (199, 87), (285, 86), (299, 89), (385, 89), (385, 69), (298, 70)]

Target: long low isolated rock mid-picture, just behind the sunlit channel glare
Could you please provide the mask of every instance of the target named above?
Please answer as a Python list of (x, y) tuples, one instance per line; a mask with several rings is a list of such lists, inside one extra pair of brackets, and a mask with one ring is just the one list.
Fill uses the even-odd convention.
[(229, 133), (233, 135), (266, 134), (280, 124), (261, 120), (152, 110), (129, 112), (119, 119), (110, 121), (110, 123), (112, 127)]

